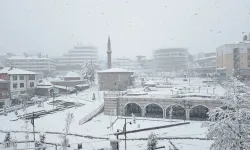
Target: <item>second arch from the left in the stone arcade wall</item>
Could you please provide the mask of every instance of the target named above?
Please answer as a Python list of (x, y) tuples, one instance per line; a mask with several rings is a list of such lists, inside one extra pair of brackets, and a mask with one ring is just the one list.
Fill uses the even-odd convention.
[(152, 118), (163, 118), (163, 108), (155, 103), (150, 103), (145, 106), (145, 116)]

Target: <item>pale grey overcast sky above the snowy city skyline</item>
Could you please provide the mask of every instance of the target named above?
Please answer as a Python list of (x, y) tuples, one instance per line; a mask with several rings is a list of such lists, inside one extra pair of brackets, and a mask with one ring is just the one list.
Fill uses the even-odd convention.
[(250, 0), (1, 0), (0, 52), (60, 56), (77, 43), (115, 57), (215, 52), (250, 31)]

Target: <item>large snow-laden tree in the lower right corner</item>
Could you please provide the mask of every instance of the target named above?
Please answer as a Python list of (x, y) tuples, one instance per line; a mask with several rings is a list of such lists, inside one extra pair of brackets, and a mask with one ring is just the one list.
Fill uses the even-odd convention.
[(212, 150), (248, 150), (250, 149), (250, 100), (248, 88), (232, 78), (223, 84), (226, 92), (223, 96), (223, 108), (209, 112), (211, 122), (207, 137), (214, 139)]

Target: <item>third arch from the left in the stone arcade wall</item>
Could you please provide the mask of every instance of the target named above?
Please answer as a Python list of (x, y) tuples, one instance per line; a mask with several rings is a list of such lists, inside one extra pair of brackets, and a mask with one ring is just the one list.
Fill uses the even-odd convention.
[(170, 119), (171, 106), (172, 106), (171, 119), (186, 119), (186, 111), (184, 107), (178, 104), (173, 104), (166, 108), (166, 118)]

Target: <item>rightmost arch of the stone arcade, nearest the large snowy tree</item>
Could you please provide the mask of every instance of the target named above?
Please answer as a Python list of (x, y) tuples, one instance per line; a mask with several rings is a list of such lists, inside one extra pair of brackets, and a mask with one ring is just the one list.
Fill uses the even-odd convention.
[(208, 119), (209, 108), (204, 105), (195, 105), (189, 111), (190, 120), (204, 121)]

